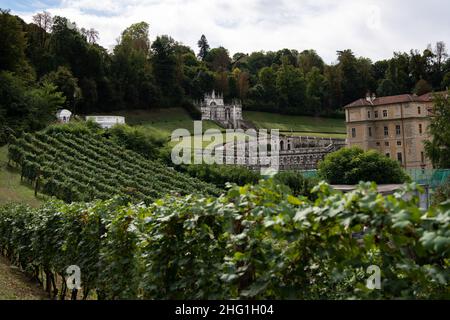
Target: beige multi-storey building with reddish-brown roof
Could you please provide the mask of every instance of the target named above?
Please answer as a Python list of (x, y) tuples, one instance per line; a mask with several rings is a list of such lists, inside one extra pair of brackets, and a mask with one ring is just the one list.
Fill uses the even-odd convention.
[(375, 149), (404, 168), (432, 168), (424, 144), (432, 95), (367, 96), (345, 106), (347, 144)]

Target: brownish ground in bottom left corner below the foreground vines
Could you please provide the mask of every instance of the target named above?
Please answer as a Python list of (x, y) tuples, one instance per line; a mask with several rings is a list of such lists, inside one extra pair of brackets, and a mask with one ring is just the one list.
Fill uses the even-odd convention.
[(0, 300), (45, 300), (47, 295), (0, 256)]

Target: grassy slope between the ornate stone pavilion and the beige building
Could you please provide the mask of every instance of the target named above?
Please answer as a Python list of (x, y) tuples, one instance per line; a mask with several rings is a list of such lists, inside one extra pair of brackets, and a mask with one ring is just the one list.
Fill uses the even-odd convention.
[(244, 119), (252, 121), (258, 128), (278, 129), (280, 133), (299, 136), (345, 138), (343, 119), (291, 116), (268, 112), (244, 111)]

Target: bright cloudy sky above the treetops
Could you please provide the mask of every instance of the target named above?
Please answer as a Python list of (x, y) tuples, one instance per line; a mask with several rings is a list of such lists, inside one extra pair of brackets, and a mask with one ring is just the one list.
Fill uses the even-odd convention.
[(0, 0), (0, 8), (27, 22), (43, 10), (67, 17), (98, 30), (106, 48), (139, 21), (150, 24), (151, 40), (168, 34), (195, 51), (205, 34), (231, 55), (312, 48), (327, 63), (344, 49), (376, 61), (436, 41), (450, 46), (446, 0)]

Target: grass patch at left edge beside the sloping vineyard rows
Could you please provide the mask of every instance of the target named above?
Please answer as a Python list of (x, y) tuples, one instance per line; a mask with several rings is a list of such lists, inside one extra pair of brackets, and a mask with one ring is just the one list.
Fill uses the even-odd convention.
[(8, 147), (4, 146), (0, 148), (0, 205), (7, 202), (38, 207), (42, 200), (34, 196), (32, 187), (20, 181), (19, 171), (8, 166)]

